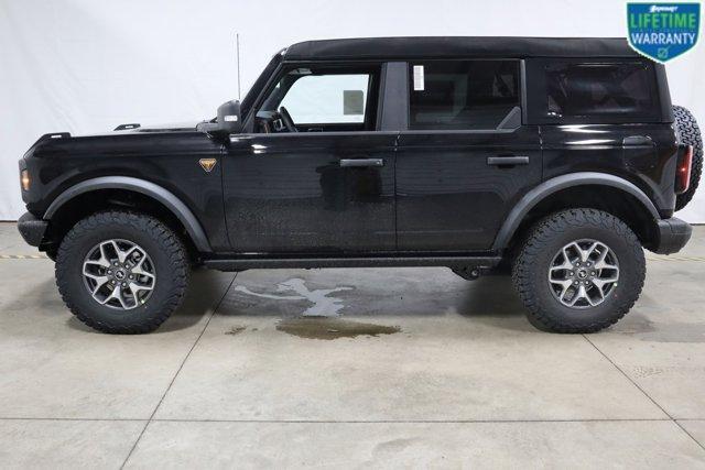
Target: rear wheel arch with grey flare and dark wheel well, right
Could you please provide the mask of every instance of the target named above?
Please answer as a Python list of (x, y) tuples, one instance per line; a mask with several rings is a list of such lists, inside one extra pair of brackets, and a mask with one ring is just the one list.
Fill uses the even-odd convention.
[(571, 208), (609, 212), (623, 220), (644, 247), (655, 242), (654, 220), (661, 217), (651, 199), (623, 178), (585, 172), (549, 179), (524, 195), (505, 220), (492, 249), (511, 249), (535, 221)]

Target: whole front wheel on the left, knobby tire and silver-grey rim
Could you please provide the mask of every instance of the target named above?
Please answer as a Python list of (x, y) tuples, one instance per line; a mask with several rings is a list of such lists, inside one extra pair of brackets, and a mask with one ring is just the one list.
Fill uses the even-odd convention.
[(141, 334), (181, 304), (188, 261), (182, 241), (158, 219), (111, 210), (72, 228), (55, 270), (58, 291), (79, 320), (104, 332)]

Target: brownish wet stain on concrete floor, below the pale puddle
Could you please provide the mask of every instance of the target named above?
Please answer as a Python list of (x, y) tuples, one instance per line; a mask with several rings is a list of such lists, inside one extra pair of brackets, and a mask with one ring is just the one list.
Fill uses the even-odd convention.
[(276, 325), (279, 331), (306, 339), (338, 339), (358, 336), (393, 335), (401, 328), (365, 324), (332, 317), (296, 317), (283, 319)]

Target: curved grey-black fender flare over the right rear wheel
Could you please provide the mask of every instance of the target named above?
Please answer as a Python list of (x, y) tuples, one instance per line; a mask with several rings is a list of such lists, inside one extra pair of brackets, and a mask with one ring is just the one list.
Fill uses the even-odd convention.
[(565, 189), (574, 186), (584, 186), (584, 185), (601, 185), (601, 186), (611, 186), (617, 189), (621, 189), (631, 196), (636, 197), (644, 208), (651, 214), (651, 216), (655, 220), (660, 219), (659, 211), (657, 207), (653, 205), (649, 196), (647, 196), (641, 189), (639, 189), (633, 183), (628, 182), (625, 178), (620, 178), (619, 176), (609, 175), (606, 173), (597, 173), (597, 172), (579, 172), (579, 173), (571, 173), (567, 175), (556, 176), (554, 178), (547, 179), (541, 183), (539, 186), (531, 189), (517, 203), (514, 208), (509, 212), (507, 219), (505, 219), (505, 223), (499, 229), (497, 237), (495, 238), (495, 243), (492, 244), (492, 250), (501, 251), (509, 244), (512, 236), (519, 228), (519, 225), (522, 222), (527, 214), (539, 203), (541, 203), (545, 197), (560, 192), (561, 189)]

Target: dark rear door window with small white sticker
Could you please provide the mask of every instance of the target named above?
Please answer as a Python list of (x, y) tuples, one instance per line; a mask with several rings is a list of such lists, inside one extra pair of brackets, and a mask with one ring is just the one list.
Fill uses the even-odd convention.
[(409, 66), (409, 129), (496, 129), (519, 106), (519, 61), (429, 61)]

